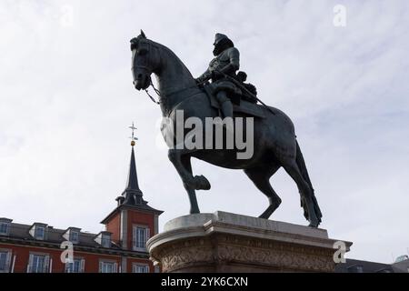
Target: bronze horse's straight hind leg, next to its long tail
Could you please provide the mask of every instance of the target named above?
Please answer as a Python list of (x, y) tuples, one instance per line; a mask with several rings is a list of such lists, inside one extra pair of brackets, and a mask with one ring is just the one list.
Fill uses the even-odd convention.
[[(290, 175), (294, 182), (298, 187), (298, 191), (302, 196), (302, 201), (304, 199), (306, 207), (306, 213), (308, 216), (308, 221), (310, 222), (310, 226), (317, 227), (319, 225), (319, 220), (315, 214), (314, 210), (314, 197), (313, 197), (313, 189), (308, 185), (305, 181), (303, 175), (298, 168), (295, 159), (286, 159), (283, 163), (284, 170)], [(305, 211), (305, 208), (304, 208)]]

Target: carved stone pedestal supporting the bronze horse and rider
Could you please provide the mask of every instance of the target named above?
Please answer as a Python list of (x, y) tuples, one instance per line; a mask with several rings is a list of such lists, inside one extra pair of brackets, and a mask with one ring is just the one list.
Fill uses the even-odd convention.
[(324, 229), (217, 211), (177, 217), (146, 246), (170, 273), (334, 272), (336, 241)]

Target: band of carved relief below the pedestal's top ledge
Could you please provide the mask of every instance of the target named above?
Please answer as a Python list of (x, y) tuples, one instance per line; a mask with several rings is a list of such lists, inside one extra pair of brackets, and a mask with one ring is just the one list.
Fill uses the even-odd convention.
[(192, 238), (172, 246), (162, 246), (155, 257), (161, 257), (164, 272), (214, 262), (219, 265), (254, 264), (282, 271), (334, 271), (331, 249), (230, 235)]

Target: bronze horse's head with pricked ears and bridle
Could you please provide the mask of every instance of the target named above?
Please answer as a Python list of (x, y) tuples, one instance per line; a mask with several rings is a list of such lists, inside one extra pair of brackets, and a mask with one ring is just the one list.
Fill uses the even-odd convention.
[(146, 89), (151, 84), (151, 74), (157, 66), (157, 50), (144, 32), (131, 39), (132, 75), (136, 90)]

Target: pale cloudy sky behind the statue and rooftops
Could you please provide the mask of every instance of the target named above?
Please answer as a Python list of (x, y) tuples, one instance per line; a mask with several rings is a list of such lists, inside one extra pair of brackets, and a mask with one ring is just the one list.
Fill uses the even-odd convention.
[[(344, 26), (334, 25), (344, 5)], [(103, 230), (125, 188), (134, 121), (139, 186), (164, 210), (188, 214), (161, 146), (160, 108), (132, 85), (129, 40), (171, 48), (193, 75), (214, 34), (241, 53), (258, 96), (295, 125), (331, 238), (346, 257), (391, 263), (409, 252), (409, 2), (0, 2), (0, 216)], [(264, 195), (239, 170), (194, 160), (210, 191), (202, 212), (259, 216)], [(270, 180), (283, 203), (271, 219), (308, 225), (293, 180)]]

